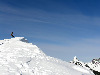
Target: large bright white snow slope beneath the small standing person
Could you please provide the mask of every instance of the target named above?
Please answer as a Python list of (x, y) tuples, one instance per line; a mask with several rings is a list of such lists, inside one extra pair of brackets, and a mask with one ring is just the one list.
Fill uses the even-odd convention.
[(94, 75), (89, 70), (47, 56), (24, 37), (0, 40), (0, 75)]

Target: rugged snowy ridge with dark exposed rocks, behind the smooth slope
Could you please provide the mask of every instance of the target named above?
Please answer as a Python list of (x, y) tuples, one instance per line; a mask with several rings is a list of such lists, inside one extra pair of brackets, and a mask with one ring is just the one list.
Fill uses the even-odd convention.
[(79, 65), (86, 69), (90, 69), (91, 71), (93, 71), (95, 75), (100, 75), (100, 59), (93, 59), (92, 62), (83, 63), (82, 61), (79, 61), (77, 57), (75, 56), (73, 61), (70, 61), (70, 63), (74, 63), (75, 65)]

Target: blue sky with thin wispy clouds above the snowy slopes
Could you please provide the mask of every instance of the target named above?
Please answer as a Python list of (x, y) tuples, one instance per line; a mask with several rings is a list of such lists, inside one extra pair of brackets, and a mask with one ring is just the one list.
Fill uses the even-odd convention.
[(49, 56), (100, 57), (99, 0), (0, 0), (0, 39), (25, 37)]

